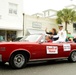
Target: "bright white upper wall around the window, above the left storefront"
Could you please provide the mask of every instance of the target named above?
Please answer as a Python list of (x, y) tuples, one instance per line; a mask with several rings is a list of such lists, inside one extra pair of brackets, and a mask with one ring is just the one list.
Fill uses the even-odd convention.
[[(18, 4), (18, 14), (9, 14), (9, 2)], [(22, 30), (23, 15), (22, 15), (22, 0), (0, 0), (0, 29), (4, 30)]]

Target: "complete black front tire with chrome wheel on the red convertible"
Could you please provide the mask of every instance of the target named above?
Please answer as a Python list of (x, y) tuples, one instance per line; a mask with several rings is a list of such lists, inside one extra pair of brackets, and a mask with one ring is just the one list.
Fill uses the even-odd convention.
[(9, 65), (13, 69), (24, 68), (26, 64), (27, 64), (27, 56), (26, 54), (21, 53), (21, 52), (14, 53), (9, 60)]

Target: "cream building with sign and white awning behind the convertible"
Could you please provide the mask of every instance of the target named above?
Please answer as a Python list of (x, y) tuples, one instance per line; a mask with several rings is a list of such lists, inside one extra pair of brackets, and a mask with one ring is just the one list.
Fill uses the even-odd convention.
[(24, 15), (24, 36), (26, 34), (45, 33), (45, 29), (50, 31), (58, 28), (55, 19)]

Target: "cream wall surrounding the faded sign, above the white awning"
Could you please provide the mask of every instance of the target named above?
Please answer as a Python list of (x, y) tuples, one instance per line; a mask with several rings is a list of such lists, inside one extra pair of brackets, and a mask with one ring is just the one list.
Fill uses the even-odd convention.
[[(48, 31), (51, 30), (52, 28), (58, 29), (55, 19), (29, 16), (29, 15), (25, 15), (24, 18), (25, 18), (24, 20), (25, 34), (27, 33), (27, 29), (36, 29), (36, 30), (40, 29), (44, 31), (46, 28), (48, 29)], [(32, 27), (33, 22), (40, 23), (41, 27), (40, 28)]]

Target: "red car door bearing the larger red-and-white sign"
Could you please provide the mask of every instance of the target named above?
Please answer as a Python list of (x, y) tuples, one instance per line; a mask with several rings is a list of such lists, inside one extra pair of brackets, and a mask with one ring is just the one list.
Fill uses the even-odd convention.
[(64, 57), (63, 44), (59, 43), (43, 43), (46, 58), (60, 58)]

